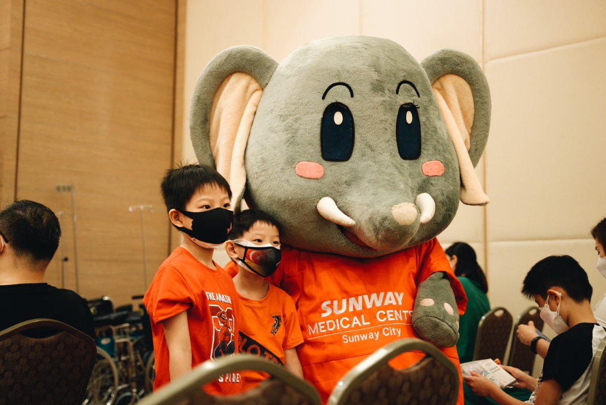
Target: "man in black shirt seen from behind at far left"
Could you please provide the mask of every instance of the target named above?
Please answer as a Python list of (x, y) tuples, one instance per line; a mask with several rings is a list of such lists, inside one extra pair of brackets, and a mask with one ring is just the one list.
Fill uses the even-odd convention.
[(44, 282), (59, 238), (55, 213), (38, 202), (19, 200), (0, 211), (0, 330), (50, 318), (95, 338), (86, 301), (72, 290)]

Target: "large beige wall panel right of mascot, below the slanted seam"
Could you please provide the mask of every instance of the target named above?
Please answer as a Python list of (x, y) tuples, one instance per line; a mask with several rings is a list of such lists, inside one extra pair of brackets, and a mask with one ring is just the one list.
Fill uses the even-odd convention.
[(574, 239), (606, 215), (606, 38), (489, 62), (491, 241)]

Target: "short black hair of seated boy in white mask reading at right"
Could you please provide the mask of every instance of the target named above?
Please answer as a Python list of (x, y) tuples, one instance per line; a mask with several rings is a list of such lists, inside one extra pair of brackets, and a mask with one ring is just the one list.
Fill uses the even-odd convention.
[(578, 261), (568, 255), (548, 256), (536, 263), (524, 278), (522, 294), (533, 299), (538, 294), (547, 299), (547, 290), (560, 287), (577, 303), (591, 301), (593, 287)]

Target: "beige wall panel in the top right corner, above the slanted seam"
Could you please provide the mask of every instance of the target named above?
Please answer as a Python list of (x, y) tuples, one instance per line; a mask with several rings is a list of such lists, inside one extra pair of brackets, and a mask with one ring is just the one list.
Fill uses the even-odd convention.
[(488, 60), (606, 36), (604, 0), (485, 3)]

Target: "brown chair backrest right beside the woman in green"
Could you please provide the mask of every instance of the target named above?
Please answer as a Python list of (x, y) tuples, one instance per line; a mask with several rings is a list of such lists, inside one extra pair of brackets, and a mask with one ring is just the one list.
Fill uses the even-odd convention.
[(513, 327), (513, 316), (504, 307), (488, 311), (478, 323), (473, 360), (505, 360), (507, 343)]

